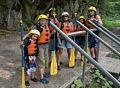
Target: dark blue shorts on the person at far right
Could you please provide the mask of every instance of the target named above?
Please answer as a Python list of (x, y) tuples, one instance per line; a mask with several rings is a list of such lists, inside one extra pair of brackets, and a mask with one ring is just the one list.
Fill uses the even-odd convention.
[(95, 38), (93, 35), (89, 34), (88, 36), (88, 47), (89, 48), (94, 48), (94, 47), (98, 47), (98, 39)]

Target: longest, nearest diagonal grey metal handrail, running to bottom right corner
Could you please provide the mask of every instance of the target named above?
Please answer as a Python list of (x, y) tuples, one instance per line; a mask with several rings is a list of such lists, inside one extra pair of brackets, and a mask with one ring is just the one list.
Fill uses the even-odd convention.
[(69, 38), (65, 33), (63, 33), (56, 25), (54, 25), (51, 21), (49, 24), (57, 30), (68, 42), (70, 42), (79, 52), (81, 52), (85, 57), (97, 67), (106, 77), (108, 77), (116, 86), (120, 87), (120, 82), (115, 79), (108, 71), (104, 69), (99, 63), (97, 63), (89, 54), (87, 54), (80, 46), (78, 46), (71, 38)]

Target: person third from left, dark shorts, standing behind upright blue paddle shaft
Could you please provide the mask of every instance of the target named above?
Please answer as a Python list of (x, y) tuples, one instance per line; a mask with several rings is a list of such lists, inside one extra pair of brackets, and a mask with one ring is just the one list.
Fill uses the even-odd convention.
[[(55, 13), (56, 9), (55, 8), (50, 8), (49, 9), (49, 18), (48, 21), (53, 22), (56, 26), (59, 26), (59, 22), (57, 20), (56, 13)], [(50, 43), (49, 43), (49, 58), (51, 60), (51, 51), (56, 52), (56, 57), (57, 57), (57, 63), (58, 63), (58, 70), (60, 70), (60, 60), (59, 60), (59, 50), (58, 50), (58, 40), (59, 40), (59, 35), (58, 32), (56, 30), (53, 29), (53, 27), (51, 27), (50, 25), (48, 25), (49, 29), (50, 29)], [(55, 38), (54, 38), (55, 37)], [(53, 47), (54, 46), (54, 47)]]

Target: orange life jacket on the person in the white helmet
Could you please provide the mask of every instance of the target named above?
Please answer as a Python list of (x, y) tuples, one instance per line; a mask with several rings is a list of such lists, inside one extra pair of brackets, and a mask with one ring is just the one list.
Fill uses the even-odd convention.
[(67, 34), (73, 32), (73, 23), (72, 22), (64, 22), (62, 24), (62, 31)]

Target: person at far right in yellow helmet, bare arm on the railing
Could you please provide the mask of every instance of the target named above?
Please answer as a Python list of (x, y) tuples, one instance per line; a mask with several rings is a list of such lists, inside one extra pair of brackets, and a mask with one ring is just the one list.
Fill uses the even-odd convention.
[[(88, 20), (92, 20), (92, 21), (97, 20), (101, 25), (103, 24), (101, 17), (99, 15), (97, 15), (96, 8), (93, 6), (88, 8), (87, 21)], [(89, 29), (95, 28), (93, 25), (89, 24), (87, 21), (86, 21), (86, 25)], [(95, 33), (98, 35), (98, 31)], [(96, 60), (98, 40), (94, 36), (92, 36), (91, 34), (89, 34), (89, 36), (88, 36), (88, 46), (90, 48), (90, 52), (91, 52), (92, 57)]]

